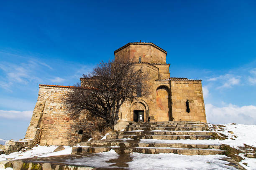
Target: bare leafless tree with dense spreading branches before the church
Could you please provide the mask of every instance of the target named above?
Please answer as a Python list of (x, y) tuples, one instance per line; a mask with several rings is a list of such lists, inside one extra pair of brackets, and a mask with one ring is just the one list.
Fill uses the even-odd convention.
[(148, 95), (148, 73), (134, 65), (121, 60), (100, 62), (64, 98), (68, 111), (79, 116), (87, 110), (90, 116), (101, 117), (113, 129), (125, 101)]

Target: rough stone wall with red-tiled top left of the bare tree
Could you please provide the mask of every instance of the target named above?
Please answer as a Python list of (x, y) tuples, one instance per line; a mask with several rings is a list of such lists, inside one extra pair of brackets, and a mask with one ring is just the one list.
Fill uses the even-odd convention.
[(94, 122), (85, 123), (84, 116), (75, 119), (67, 113), (62, 97), (69, 90), (68, 86), (39, 85), (25, 139), (34, 139), (35, 144), (40, 145), (74, 145), (87, 138)]

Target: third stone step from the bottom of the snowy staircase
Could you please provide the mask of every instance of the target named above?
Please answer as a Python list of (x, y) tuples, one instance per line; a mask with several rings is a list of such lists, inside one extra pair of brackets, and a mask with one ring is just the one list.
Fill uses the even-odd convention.
[(107, 139), (161, 139), (161, 140), (179, 140), (179, 139), (191, 139), (191, 140), (204, 140), (211, 139), (212, 136), (208, 135), (107, 135)]

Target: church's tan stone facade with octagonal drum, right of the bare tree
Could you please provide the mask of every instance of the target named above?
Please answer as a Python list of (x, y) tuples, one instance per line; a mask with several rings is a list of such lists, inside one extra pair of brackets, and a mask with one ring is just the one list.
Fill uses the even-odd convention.
[[(143, 121), (199, 120), (206, 122), (201, 80), (170, 77), (166, 64), (167, 52), (153, 43), (133, 42), (115, 50), (115, 59), (135, 62), (134, 67), (149, 72), (150, 95), (138, 101), (126, 102), (120, 119), (133, 121), (137, 110), (143, 111)], [(188, 104), (186, 105), (186, 102)], [(138, 108), (139, 106), (139, 108)], [(187, 107), (189, 112), (187, 112)]]

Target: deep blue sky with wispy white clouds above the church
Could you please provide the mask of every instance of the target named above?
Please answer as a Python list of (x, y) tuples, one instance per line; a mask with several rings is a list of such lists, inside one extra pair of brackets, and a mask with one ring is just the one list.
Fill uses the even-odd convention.
[(128, 42), (201, 79), (207, 121), (256, 124), (256, 1), (1, 1), (0, 138), (23, 138), (38, 84), (73, 85)]

